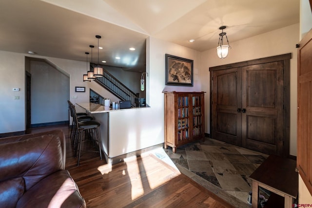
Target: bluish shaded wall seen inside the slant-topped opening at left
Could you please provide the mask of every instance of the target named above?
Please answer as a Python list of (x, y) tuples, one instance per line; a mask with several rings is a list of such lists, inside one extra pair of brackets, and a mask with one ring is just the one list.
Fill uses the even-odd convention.
[(68, 120), (69, 77), (44, 61), (31, 61), (31, 124)]

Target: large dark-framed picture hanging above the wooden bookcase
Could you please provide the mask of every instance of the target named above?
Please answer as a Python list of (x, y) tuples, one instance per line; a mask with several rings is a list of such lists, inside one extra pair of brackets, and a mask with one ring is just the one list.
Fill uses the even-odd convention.
[(193, 87), (193, 62), (166, 54), (166, 85)]

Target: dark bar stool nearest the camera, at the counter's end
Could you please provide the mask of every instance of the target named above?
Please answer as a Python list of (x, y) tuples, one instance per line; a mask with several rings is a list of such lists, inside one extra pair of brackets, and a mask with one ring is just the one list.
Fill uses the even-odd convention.
[(95, 120), (88, 120), (88, 121), (78, 121), (78, 117), (76, 114), (76, 108), (73, 105), (72, 106), (73, 113), (74, 113), (74, 119), (75, 119), (75, 128), (76, 133), (74, 135), (74, 151), (75, 151), (75, 157), (77, 157), (78, 152), (78, 161), (77, 166), (79, 166), (80, 161), (80, 153), (81, 153), (81, 143), (82, 143), (82, 134), (83, 132), (86, 133), (88, 131), (90, 133), (91, 139), (93, 140), (95, 145), (98, 145), (98, 151), (100, 159), (102, 159), (102, 152), (101, 152), (101, 145), (100, 145), (100, 139), (99, 139), (99, 132), (98, 128), (100, 126), (100, 123), (98, 123)]

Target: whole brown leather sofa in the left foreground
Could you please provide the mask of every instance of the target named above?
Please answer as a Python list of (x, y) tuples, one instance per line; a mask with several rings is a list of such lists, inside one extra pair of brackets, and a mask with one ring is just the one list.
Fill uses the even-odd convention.
[(0, 138), (0, 207), (85, 208), (61, 130)]

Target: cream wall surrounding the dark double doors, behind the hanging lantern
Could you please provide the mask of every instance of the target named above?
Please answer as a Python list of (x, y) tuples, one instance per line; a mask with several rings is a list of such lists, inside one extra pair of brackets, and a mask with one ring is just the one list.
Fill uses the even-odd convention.
[[(215, 49), (201, 53), (202, 89), (210, 93), (209, 67), (292, 53), (290, 60), (290, 154), (297, 155), (297, 49), (295, 44), (299, 42), (299, 23), (237, 42), (231, 42), (231, 34), (228, 34), (228, 38), (232, 47), (228, 57), (218, 58)], [(210, 97), (205, 96), (205, 132), (210, 132), (209, 104)]]

